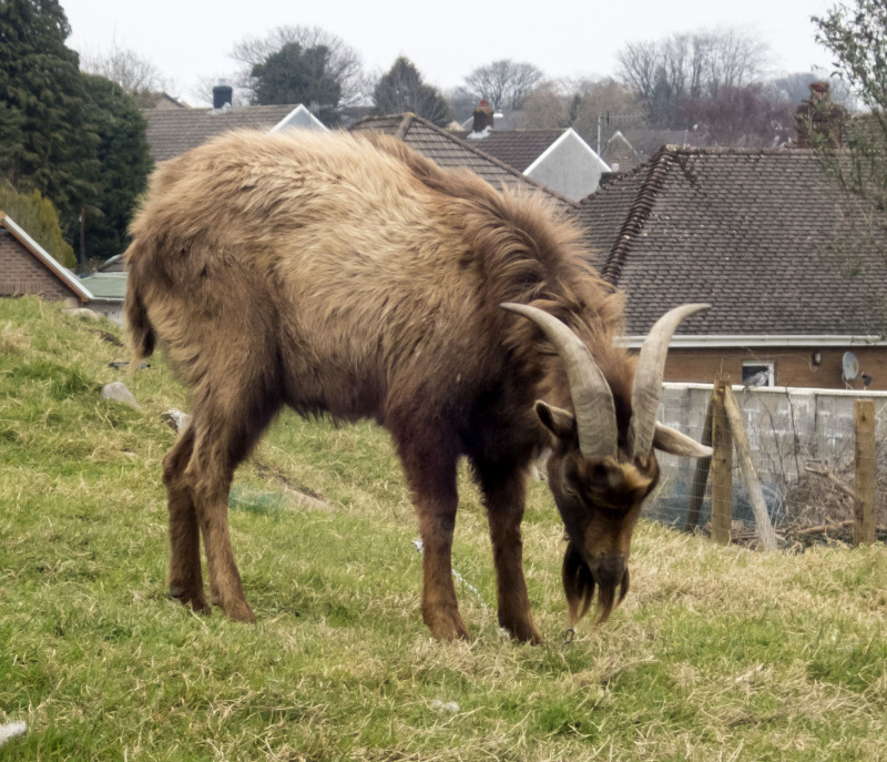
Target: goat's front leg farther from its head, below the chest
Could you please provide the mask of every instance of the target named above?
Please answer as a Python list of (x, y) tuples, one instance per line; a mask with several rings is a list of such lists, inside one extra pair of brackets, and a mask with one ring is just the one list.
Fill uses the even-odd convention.
[(422, 539), (422, 620), (439, 640), (468, 640), (452, 585), (452, 534), (459, 496), (456, 457), (440, 450), (404, 453), (401, 459)]

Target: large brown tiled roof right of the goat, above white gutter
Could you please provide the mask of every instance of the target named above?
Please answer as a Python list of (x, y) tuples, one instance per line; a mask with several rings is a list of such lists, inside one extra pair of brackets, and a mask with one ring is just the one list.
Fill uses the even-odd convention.
[(663, 148), (582, 201), (580, 220), (628, 296), (628, 331), (711, 302), (679, 334), (877, 335), (887, 231), (810, 151)]

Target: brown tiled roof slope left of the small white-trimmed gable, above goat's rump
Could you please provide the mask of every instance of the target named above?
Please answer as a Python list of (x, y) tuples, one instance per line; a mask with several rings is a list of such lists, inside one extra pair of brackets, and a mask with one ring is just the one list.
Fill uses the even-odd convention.
[(271, 130), (295, 105), (214, 109), (145, 109), (147, 144), (155, 162), (173, 159), (228, 130)]

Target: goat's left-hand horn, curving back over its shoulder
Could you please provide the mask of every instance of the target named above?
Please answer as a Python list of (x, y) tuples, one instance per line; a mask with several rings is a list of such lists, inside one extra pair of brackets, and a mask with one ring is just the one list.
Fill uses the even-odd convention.
[(613, 393), (582, 339), (564, 323), (538, 307), (511, 303), (499, 306), (536, 323), (558, 350), (567, 369), (582, 455), (592, 460), (616, 457)]

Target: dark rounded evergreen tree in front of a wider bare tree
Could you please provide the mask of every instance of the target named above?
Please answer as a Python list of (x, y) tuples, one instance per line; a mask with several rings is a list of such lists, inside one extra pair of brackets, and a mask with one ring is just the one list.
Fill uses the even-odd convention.
[(254, 65), (252, 75), (256, 80), (254, 104), (303, 103), (325, 124), (337, 121), (341, 85), (329, 74), (329, 49), (325, 45), (303, 48), (298, 42), (287, 42), (264, 63)]

